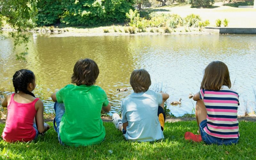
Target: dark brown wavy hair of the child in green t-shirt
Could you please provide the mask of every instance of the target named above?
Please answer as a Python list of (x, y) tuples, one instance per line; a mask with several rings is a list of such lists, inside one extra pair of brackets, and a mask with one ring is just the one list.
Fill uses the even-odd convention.
[(97, 63), (91, 59), (80, 59), (74, 66), (74, 73), (71, 77), (71, 83), (76, 85), (94, 85), (99, 76)]

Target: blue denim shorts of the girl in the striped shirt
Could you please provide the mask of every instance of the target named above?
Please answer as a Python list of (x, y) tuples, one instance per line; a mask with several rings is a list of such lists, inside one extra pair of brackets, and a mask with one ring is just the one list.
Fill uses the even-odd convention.
[(211, 136), (204, 131), (204, 127), (206, 127), (206, 125), (207, 125), (207, 120), (203, 120), (199, 124), (202, 140), (206, 144), (231, 145), (233, 143), (236, 144), (239, 140), (239, 137), (238, 138), (218, 138), (218, 137)]

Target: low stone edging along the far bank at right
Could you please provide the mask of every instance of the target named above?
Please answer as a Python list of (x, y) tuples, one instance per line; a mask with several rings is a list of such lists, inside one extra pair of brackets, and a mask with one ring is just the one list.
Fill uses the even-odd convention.
[(256, 28), (205, 27), (204, 31), (220, 34), (256, 34)]

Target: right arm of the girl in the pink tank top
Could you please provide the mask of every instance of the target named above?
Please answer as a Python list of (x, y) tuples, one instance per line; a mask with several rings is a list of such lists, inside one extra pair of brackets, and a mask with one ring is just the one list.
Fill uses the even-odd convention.
[(50, 129), (49, 124), (44, 123), (44, 104), (41, 100), (38, 100), (35, 104), (36, 112), (36, 126), (38, 132), (43, 133)]

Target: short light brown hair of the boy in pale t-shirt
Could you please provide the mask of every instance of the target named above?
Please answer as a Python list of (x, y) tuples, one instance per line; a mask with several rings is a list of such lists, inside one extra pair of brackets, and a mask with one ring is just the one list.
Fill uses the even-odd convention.
[(135, 93), (148, 91), (151, 85), (149, 73), (145, 69), (135, 69), (132, 71), (130, 84)]

